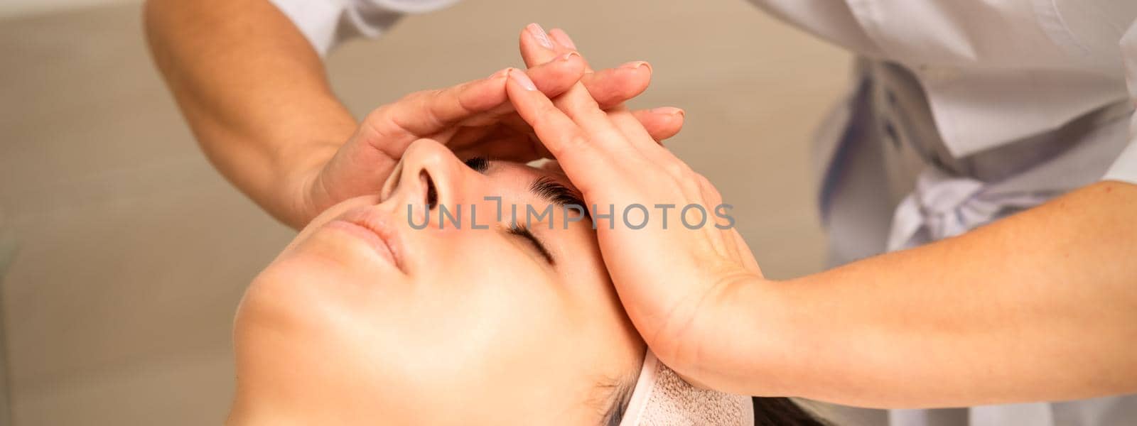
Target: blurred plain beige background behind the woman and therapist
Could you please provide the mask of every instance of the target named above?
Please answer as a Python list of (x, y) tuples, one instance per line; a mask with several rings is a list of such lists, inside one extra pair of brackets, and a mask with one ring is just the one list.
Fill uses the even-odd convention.
[[(139, 16), (125, 5), (0, 20), (0, 307), (15, 425), (219, 423), (234, 307), (292, 234), (206, 162)], [(767, 274), (821, 266), (808, 137), (843, 91), (847, 58), (741, 0), (465, 1), (346, 45), (331, 76), (362, 115), (518, 66), (517, 32), (534, 20), (568, 30), (594, 65), (650, 61), (653, 86), (634, 106), (687, 110), (669, 145), (737, 206)]]

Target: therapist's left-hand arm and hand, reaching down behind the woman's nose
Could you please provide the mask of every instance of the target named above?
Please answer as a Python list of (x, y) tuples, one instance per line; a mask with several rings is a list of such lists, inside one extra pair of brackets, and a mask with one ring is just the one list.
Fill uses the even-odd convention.
[[(144, 23), (155, 62), (209, 160), (296, 228), (339, 201), (372, 193), (421, 137), (464, 158), (547, 156), (513, 112), (504, 72), (409, 94), (357, 122), (332, 93), (316, 51), (267, 0), (149, 0)], [(558, 51), (524, 52), (532, 80), (549, 95), (580, 81), (612, 107), (650, 80), (640, 62), (586, 72), (583, 59), (570, 55), (574, 49), (554, 44), (536, 25), (522, 37), (542, 41), (533, 43), (540, 51)], [(682, 126), (675, 108), (637, 117), (657, 140)]]

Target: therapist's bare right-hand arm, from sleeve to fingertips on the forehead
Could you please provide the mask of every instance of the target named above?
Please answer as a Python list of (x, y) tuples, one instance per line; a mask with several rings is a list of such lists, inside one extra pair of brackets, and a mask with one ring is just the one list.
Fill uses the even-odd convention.
[[(579, 85), (508, 92), (589, 204), (722, 198)], [(819, 274), (763, 277), (735, 228), (598, 226), (629, 317), (689, 382), (881, 408), (1137, 392), (1137, 185), (1101, 182), (958, 237)], [(719, 222), (720, 225), (725, 225)]]

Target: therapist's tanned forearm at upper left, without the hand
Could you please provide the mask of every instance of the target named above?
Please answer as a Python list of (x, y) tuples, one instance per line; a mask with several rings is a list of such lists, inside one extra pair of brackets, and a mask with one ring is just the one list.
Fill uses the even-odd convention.
[(356, 128), (304, 35), (266, 0), (149, 0), (150, 49), (210, 161), (287, 223)]

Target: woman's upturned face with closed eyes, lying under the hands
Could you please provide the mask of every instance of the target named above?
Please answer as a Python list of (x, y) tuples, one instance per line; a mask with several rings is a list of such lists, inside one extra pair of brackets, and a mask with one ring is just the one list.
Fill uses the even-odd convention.
[[(319, 215), (254, 279), (235, 323), (231, 420), (599, 423), (606, 386), (638, 371), (644, 348), (590, 222), (565, 226), (554, 204), (530, 218), (530, 239), (512, 229), (511, 206), (525, 227), (526, 206), (570, 200), (548, 185), (567, 181), (470, 164), (481, 170), (414, 143), (381, 194)], [(500, 220), (487, 197), (500, 197)], [(460, 206), (460, 228), (440, 228), (443, 206)]]

